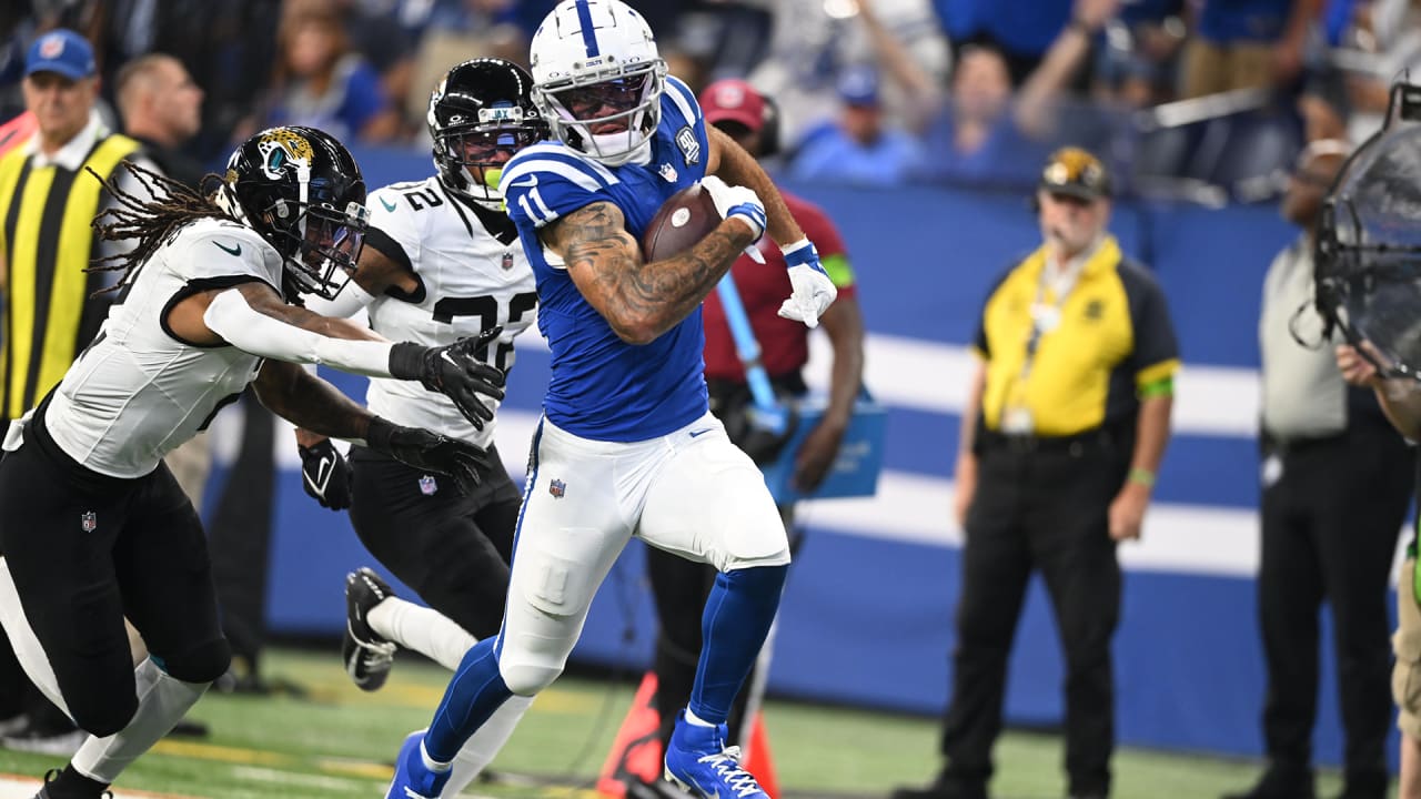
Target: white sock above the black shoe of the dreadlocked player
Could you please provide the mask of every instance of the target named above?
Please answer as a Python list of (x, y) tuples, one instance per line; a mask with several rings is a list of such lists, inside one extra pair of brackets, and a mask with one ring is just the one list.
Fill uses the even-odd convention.
[(134, 670), (134, 680), (138, 682), (138, 712), (128, 726), (108, 738), (90, 735), (71, 761), (74, 771), (90, 779), (104, 783), (118, 779), (128, 763), (168, 735), (209, 685), (183, 682), (158, 668), (152, 660)]

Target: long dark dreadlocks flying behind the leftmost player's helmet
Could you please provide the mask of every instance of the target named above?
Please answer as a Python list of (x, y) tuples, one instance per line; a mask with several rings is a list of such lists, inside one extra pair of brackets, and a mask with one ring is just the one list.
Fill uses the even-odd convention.
[(219, 206), (212, 199), (222, 181), (219, 175), (209, 173), (203, 176), (203, 189), (207, 186), (212, 186), (213, 189), (210, 192), (205, 192), (193, 189), (179, 181), (173, 181), (166, 175), (159, 175), (158, 172), (139, 166), (132, 161), (121, 162), (119, 169), (126, 169), (128, 173), (138, 181), (138, 185), (142, 186), (149, 196), (152, 196), (149, 200), (142, 200), (118, 188), (118, 169), (115, 169), (108, 179), (99, 176), (99, 173), (90, 166), (85, 166), (85, 169), (88, 169), (90, 175), (94, 175), (94, 178), (104, 183), (104, 189), (107, 189), (115, 200), (115, 203), (104, 213), (94, 218), (94, 230), (98, 232), (101, 239), (108, 239), (109, 242), (125, 239), (138, 240), (138, 246), (132, 250), (95, 259), (92, 266), (84, 269), (84, 272), (124, 270), (114, 286), (102, 289), (95, 294), (117, 291), (128, 281), (128, 276), (135, 269), (152, 257), (158, 247), (171, 242), (173, 236), (176, 236), (178, 232), (190, 222), (196, 222), (199, 219), (226, 219), (229, 222), (237, 222), (239, 225), (242, 223), (240, 219), (233, 216), (229, 210)]

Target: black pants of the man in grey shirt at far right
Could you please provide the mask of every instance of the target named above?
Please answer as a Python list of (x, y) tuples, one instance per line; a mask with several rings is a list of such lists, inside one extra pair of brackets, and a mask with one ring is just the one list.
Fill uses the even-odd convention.
[(1272, 768), (1312, 766), (1319, 610), (1331, 607), (1349, 788), (1381, 796), (1391, 724), (1387, 590), (1412, 488), (1412, 455), (1390, 428), (1287, 448), (1266, 439), (1282, 475), (1262, 492), (1259, 624), (1268, 664), (1263, 736)]

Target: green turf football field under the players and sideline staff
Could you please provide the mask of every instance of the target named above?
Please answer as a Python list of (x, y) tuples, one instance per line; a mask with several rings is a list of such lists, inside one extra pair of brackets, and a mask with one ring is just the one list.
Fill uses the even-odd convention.
[[(205, 739), (162, 741), (119, 781), (119, 789), (210, 799), (384, 796), (401, 739), (425, 726), (448, 672), (401, 655), (389, 684), (362, 694), (334, 651), (273, 651), (266, 675), (304, 695), (209, 692), (190, 717), (210, 725)], [(493, 763), (493, 781), (466, 795), (590, 798), (597, 771), (631, 702), (625, 681), (564, 678), (533, 704)], [(767, 704), (766, 726), (786, 798), (887, 798), (895, 785), (925, 782), (936, 768), (936, 722), (797, 702)], [(1060, 739), (1007, 734), (998, 746), (993, 796), (1064, 795)], [(38, 778), (63, 759), (0, 749), (0, 775)], [(1256, 763), (1124, 749), (1115, 758), (1117, 799), (1216, 798), (1256, 776)], [(0, 798), (33, 793), (0, 785)], [(1336, 775), (1319, 795), (1339, 790)], [(122, 790), (121, 790), (122, 793)]]

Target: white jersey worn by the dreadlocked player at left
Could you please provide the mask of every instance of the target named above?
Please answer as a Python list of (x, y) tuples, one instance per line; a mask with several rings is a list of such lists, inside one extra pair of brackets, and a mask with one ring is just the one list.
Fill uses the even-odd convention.
[(159, 246), (60, 381), (45, 417), (54, 442), (95, 472), (138, 478), (206, 428), (256, 378), (261, 358), (186, 344), (168, 330), (165, 311), (250, 280), (281, 286), (281, 254), (250, 227), (202, 219)]

